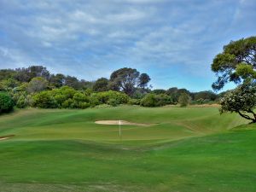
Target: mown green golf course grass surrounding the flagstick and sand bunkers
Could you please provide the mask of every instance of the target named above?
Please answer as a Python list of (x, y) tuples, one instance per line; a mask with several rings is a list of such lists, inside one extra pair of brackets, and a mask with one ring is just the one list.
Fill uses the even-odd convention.
[[(124, 119), (151, 126), (96, 125)], [(256, 126), (218, 108), (0, 116), (0, 191), (256, 191)], [(238, 126), (238, 127), (237, 127)], [(236, 127), (236, 129), (232, 129)]]

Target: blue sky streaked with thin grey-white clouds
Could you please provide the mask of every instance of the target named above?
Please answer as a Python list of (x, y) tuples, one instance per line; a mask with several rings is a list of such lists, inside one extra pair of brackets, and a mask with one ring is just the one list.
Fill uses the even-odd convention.
[(96, 80), (132, 67), (154, 89), (212, 90), (212, 59), (255, 19), (256, 0), (0, 0), (0, 68)]

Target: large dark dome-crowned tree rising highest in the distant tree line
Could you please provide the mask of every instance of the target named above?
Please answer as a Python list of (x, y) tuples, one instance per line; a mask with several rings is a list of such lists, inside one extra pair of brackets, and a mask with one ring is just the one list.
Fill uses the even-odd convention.
[(132, 96), (139, 81), (139, 75), (135, 68), (120, 68), (111, 74), (110, 86), (113, 90), (123, 90), (125, 94)]

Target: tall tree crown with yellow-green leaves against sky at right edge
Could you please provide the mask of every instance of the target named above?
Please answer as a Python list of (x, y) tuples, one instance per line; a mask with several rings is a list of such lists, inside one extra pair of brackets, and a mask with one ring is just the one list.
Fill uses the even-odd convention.
[(239, 84), (247, 78), (256, 79), (255, 70), (256, 37), (231, 41), (213, 59), (212, 71), (218, 79), (212, 84), (212, 89), (220, 90), (228, 82)]

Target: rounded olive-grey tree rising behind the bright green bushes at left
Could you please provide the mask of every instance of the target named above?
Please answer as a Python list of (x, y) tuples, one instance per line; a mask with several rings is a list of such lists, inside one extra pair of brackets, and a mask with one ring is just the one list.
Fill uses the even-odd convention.
[(26, 90), (29, 93), (38, 92), (41, 90), (46, 90), (48, 86), (48, 81), (42, 77), (33, 78), (28, 84)]

